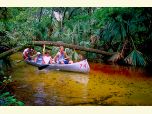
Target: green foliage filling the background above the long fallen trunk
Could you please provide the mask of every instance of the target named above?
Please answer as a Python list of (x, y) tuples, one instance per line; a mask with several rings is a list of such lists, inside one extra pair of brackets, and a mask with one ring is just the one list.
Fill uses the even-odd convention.
[[(54, 11), (62, 15), (62, 21), (55, 18)], [(10, 47), (33, 40), (91, 47), (90, 37), (96, 35), (99, 41), (95, 42), (95, 48), (109, 52), (124, 51), (127, 55), (133, 50), (132, 45), (139, 50), (145, 41), (152, 38), (151, 8), (2, 8), (1, 12), (0, 33), (3, 34), (0, 35), (0, 44)], [(134, 42), (126, 44), (130, 47), (128, 50), (123, 49), (126, 40)], [(53, 47), (53, 56), (56, 50)], [(87, 56), (94, 58), (96, 54), (87, 53)]]

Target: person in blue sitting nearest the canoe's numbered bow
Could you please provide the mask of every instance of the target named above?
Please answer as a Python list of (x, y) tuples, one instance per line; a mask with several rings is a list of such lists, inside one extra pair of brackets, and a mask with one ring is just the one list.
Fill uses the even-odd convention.
[(54, 61), (58, 64), (72, 64), (73, 63), (73, 61), (70, 60), (70, 57), (64, 51), (63, 46), (60, 46), (60, 50), (55, 55)]

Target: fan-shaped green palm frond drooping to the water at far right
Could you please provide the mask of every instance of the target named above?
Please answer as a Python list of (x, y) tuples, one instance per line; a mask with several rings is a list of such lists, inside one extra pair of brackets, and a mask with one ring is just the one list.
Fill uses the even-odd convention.
[(143, 54), (138, 50), (133, 50), (126, 58), (125, 62), (133, 66), (146, 66)]

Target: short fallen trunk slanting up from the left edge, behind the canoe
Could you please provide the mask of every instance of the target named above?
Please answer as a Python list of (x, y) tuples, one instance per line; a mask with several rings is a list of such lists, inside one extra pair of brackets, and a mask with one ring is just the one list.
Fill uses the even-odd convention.
[(11, 55), (13, 53), (16, 53), (16, 52), (18, 52), (18, 51), (20, 51), (20, 50), (22, 50), (22, 49), (24, 49), (26, 47), (27, 47), (27, 45), (24, 45), (24, 46), (16, 47), (16, 48), (10, 49), (8, 51), (5, 51), (5, 52), (0, 54), (0, 59), (3, 59), (6, 56), (9, 56), (9, 55)]

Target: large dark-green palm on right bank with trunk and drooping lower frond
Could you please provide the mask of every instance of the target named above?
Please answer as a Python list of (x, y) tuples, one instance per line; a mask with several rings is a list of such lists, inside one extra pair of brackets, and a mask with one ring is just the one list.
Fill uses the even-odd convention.
[[(122, 45), (121, 48), (118, 46), (118, 52), (109, 61), (116, 62), (124, 59), (126, 46), (131, 42), (133, 51), (125, 58), (125, 61), (135, 66), (146, 65), (142, 53), (136, 50), (132, 38), (132, 36), (137, 37), (135, 33), (145, 30), (144, 27), (141, 27), (142, 19), (139, 18), (139, 15), (135, 15), (135, 11), (131, 8), (104, 8), (97, 10), (95, 16), (98, 19), (102, 19), (101, 24), (99, 24), (103, 29), (103, 40), (111, 45), (116, 43), (119, 43), (120, 46)], [(102, 15), (105, 15), (105, 17), (101, 17)]]

